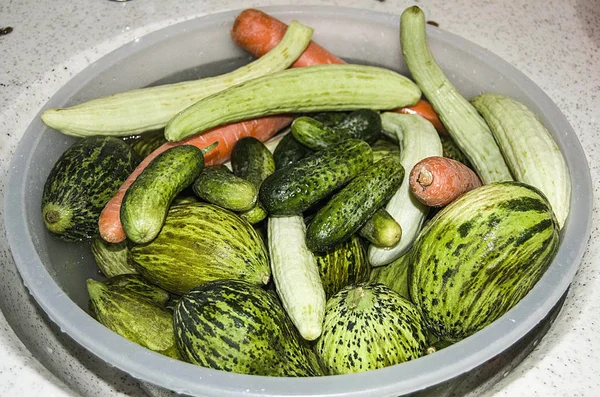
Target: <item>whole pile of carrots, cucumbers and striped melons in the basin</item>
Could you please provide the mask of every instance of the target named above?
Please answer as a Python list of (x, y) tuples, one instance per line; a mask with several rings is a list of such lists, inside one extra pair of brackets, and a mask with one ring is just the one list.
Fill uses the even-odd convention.
[(418, 7), (400, 23), (414, 81), (253, 9), (231, 36), (258, 59), (42, 113), (80, 137), (42, 217), (92, 239), (100, 323), (204, 367), (322, 376), (435, 352), (535, 285), (568, 216), (565, 160), (523, 104), (461, 96)]

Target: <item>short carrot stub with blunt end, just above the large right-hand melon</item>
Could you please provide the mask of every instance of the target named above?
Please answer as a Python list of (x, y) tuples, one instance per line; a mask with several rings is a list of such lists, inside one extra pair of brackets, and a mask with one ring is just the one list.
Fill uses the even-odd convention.
[(481, 186), (479, 177), (463, 163), (433, 156), (419, 161), (410, 171), (410, 190), (430, 207), (442, 207), (463, 193)]

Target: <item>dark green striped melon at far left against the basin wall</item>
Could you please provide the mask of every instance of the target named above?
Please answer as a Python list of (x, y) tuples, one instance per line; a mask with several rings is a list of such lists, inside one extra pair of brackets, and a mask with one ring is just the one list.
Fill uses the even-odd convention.
[(106, 203), (137, 163), (131, 147), (118, 138), (83, 138), (52, 167), (42, 193), (42, 219), (48, 231), (66, 241), (98, 234)]

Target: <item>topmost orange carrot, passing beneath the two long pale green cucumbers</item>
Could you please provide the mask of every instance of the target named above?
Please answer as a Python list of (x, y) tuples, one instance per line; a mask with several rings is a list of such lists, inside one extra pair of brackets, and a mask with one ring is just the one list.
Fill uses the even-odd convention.
[[(257, 58), (265, 55), (283, 38), (287, 25), (280, 20), (255, 9), (242, 11), (235, 19), (231, 28), (233, 41)], [(294, 62), (292, 67), (321, 65), (328, 63), (345, 63), (314, 41)], [(429, 120), (438, 132), (446, 132), (437, 113), (429, 102), (420, 100), (414, 106), (396, 110), (399, 113), (418, 114)]]

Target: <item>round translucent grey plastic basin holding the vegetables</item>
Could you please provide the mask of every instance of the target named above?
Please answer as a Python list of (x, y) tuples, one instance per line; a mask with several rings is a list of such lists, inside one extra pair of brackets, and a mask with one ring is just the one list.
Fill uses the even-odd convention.
[[(338, 56), (406, 73), (399, 16), (334, 7), (268, 7), (284, 21), (315, 28), (314, 39)], [(226, 71), (250, 58), (229, 38), (238, 12), (170, 26), (142, 37), (90, 65), (46, 104), (83, 100)], [(44, 181), (74, 141), (32, 120), (11, 164), (5, 217), (9, 244), (23, 281), (40, 307), (90, 352), (132, 376), (165, 389), (199, 396), (398, 396), (453, 379), (497, 356), (533, 329), (566, 291), (586, 248), (591, 222), (591, 179), (577, 136), (556, 105), (511, 65), (455, 35), (428, 27), (433, 53), (464, 96), (485, 91), (512, 96), (535, 111), (566, 156), (573, 181), (571, 213), (552, 265), (512, 310), (475, 335), (433, 355), (361, 374), (306, 379), (231, 374), (178, 362), (131, 343), (87, 314), (85, 280), (100, 278), (89, 246), (50, 236), (40, 216)]]

